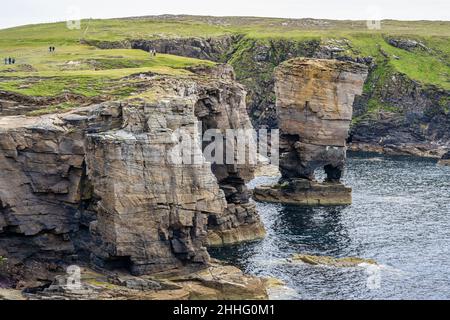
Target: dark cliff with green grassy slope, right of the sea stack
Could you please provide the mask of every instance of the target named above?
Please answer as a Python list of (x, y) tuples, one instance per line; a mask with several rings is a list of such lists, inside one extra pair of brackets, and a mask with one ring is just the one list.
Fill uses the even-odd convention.
[[(386, 63), (384, 63), (386, 64)], [(370, 74), (354, 104), (349, 148), (439, 159), (450, 148), (450, 91), (425, 86), (391, 70)]]

